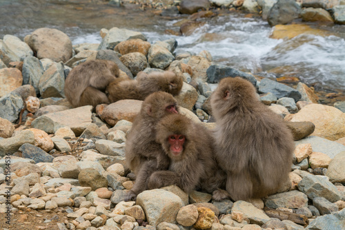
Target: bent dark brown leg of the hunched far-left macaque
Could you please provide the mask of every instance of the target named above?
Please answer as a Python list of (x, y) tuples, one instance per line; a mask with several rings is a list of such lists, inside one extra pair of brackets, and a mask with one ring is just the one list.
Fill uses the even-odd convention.
[(110, 103), (106, 94), (94, 87), (88, 86), (80, 96), (79, 106), (92, 105), (95, 108), (97, 105), (103, 103)]

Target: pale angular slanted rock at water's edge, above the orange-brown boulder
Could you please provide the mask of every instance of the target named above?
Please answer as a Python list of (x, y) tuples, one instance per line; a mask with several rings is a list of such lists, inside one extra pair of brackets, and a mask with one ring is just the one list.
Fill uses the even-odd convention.
[(120, 28), (111, 28), (106, 34), (106, 36), (101, 41), (101, 44), (98, 47), (98, 50), (114, 50), (115, 46), (121, 41), (126, 41), (129, 39), (141, 39), (146, 41), (146, 36), (141, 34), (141, 32), (135, 32), (132, 30), (120, 29)]

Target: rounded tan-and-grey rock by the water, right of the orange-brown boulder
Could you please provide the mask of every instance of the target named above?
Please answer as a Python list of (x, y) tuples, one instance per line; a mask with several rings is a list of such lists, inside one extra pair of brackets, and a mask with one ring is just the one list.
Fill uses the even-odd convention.
[(148, 63), (152, 67), (164, 70), (174, 59), (175, 57), (171, 52), (161, 43), (151, 45), (150, 50), (148, 50)]

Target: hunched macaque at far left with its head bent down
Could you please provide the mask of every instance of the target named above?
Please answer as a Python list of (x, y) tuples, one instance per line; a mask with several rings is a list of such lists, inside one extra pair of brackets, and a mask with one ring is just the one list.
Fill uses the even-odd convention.
[(104, 93), (107, 85), (119, 76), (113, 61), (92, 60), (74, 67), (65, 81), (65, 95), (73, 107), (109, 103)]

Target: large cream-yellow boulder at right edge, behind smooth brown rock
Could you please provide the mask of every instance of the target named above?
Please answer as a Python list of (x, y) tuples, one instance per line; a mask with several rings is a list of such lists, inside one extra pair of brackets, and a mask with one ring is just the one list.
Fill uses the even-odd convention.
[(333, 106), (306, 105), (290, 121), (311, 121), (315, 125), (313, 136), (328, 140), (345, 136), (345, 114)]

